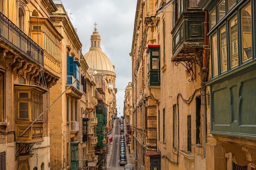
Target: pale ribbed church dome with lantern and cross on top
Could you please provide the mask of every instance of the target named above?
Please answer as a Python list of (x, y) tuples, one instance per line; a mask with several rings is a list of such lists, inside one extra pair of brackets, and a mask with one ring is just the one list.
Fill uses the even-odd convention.
[(97, 32), (95, 23), (94, 32), (91, 35), (91, 47), (90, 50), (84, 55), (86, 63), (89, 68), (93, 70), (104, 70), (115, 72), (115, 69), (106, 54), (101, 50), (101, 36)]

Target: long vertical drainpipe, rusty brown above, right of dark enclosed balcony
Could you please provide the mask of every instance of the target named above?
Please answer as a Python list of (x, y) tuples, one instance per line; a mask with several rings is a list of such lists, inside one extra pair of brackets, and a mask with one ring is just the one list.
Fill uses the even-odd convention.
[(207, 104), (206, 104), (206, 85), (208, 73), (209, 73), (209, 37), (208, 34), (208, 11), (205, 11), (205, 22), (204, 22), (204, 50), (203, 50), (203, 65), (202, 65), (202, 76), (201, 76), (201, 94), (202, 94), (202, 116), (203, 116), (203, 156), (205, 158), (205, 148), (207, 142)]

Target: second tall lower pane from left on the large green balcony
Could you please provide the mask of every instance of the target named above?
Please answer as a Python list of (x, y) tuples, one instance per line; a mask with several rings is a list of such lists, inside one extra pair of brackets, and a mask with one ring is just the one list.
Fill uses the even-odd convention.
[(221, 49), (221, 72), (227, 70), (227, 35), (226, 26), (220, 30), (220, 49)]

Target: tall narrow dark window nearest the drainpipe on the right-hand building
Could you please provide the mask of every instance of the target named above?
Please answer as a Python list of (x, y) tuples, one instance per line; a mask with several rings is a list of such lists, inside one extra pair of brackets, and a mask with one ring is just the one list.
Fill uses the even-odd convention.
[(195, 125), (196, 125), (196, 144), (200, 144), (200, 126), (201, 126), (201, 98), (195, 98)]

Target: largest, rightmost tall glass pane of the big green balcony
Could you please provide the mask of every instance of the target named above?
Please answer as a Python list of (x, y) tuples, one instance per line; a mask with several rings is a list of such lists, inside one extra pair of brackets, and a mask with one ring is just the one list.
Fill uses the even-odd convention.
[(252, 8), (251, 4), (242, 9), (243, 61), (252, 58)]

